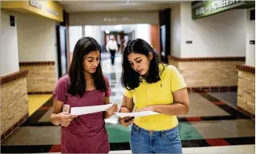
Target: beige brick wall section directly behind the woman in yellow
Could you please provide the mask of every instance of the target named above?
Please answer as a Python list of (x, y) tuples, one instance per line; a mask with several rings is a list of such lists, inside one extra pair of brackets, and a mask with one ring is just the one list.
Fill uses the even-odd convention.
[(189, 88), (236, 86), (236, 65), (241, 61), (197, 61), (178, 62), (169, 59), (169, 63), (178, 68)]

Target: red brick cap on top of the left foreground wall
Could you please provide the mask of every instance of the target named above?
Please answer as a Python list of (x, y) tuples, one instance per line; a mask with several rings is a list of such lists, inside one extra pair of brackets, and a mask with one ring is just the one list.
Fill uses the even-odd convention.
[(1, 80), (1, 85), (2, 84), (6, 84), (12, 81), (16, 81), (17, 79), (21, 78), (21, 77), (25, 77), (28, 73), (28, 70), (21, 70), (15, 73), (10, 73), (8, 75), (2, 76), (0, 77)]

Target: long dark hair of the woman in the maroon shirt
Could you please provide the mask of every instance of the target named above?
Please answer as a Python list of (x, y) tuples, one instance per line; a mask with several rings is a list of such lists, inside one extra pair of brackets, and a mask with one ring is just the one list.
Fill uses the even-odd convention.
[[(85, 94), (86, 81), (83, 61), (85, 55), (92, 51), (102, 52), (102, 48), (94, 38), (80, 38), (74, 46), (73, 58), (68, 73), (70, 76), (70, 87), (68, 92), (71, 95), (79, 95), (81, 97)], [(99, 66), (96, 68), (96, 73), (92, 73), (92, 77), (96, 89), (99, 91), (106, 91), (106, 82), (103, 77), (100, 61)]]

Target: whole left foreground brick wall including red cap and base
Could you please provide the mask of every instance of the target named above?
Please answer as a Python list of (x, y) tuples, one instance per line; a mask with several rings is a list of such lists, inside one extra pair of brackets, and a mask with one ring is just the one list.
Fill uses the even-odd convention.
[(27, 70), (1, 77), (1, 141), (28, 117)]

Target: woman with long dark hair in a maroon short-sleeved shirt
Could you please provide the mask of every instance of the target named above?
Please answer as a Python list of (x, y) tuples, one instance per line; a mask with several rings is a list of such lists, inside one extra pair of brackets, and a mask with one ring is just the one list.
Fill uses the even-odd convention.
[(117, 112), (117, 104), (106, 112), (81, 116), (63, 113), (70, 107), (99, 106), (110, 103), (110, 84), (100, 65), (102, 49), (93, 38), (81, 38), (74, 47), (67, 75), (59, 78), (53, 92), (52, 124), (61, 125), (62, 153), (108, 153), (110, 144), (104, 119)]

